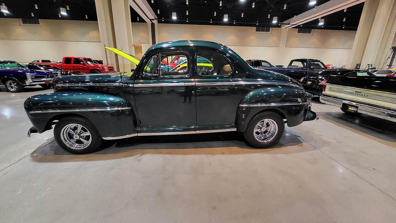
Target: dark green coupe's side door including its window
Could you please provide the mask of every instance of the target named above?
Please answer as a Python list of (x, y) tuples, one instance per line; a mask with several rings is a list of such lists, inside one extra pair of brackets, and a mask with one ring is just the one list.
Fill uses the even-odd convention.
[[(165, 60), (169, 64), (175, 56), (187, 58), (186, 69), (171, 71), (162, 63)], [(194, 73), (188, 49), (157, 52), (149, 57), (133, 82), (140, 133), (196, 131)]]

